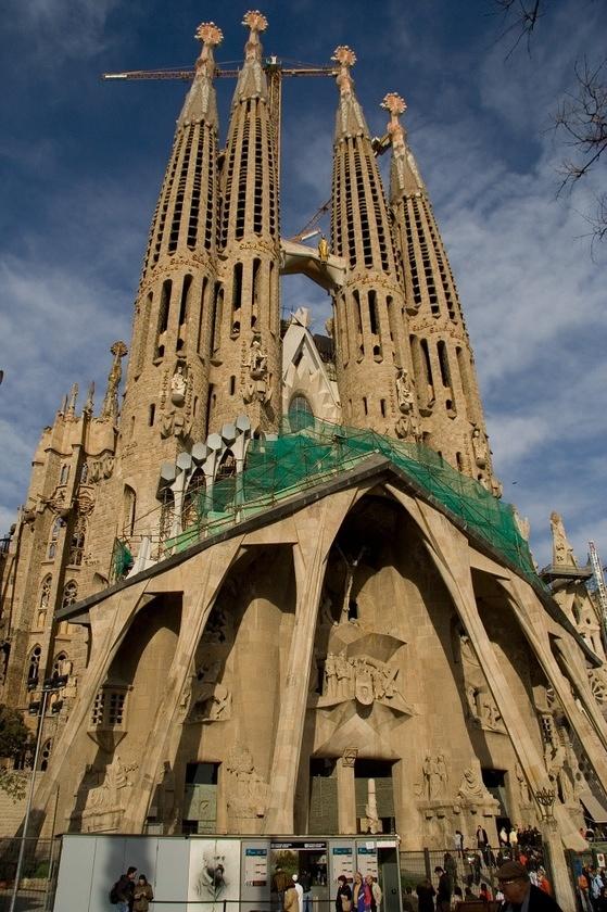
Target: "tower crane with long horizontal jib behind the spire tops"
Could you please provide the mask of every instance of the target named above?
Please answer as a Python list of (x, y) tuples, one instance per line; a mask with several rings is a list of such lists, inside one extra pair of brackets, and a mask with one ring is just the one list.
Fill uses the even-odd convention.
[[(338, 69), (334, 66), (283, 66), (282, 61), (274, 54), (267, 56), (263, 64), (268, 80), (268, 105), (273, 123), (274, 140), (276, 145), (277, 179), (280, 182), (280, 119), (282, 111), (282, 78), (284, 76), (337, 76)], [(236, 79), (240, 69), (215, 68), (215, 77), (223, 79)], [(125, 69), (124, 73), (102, 73), (102, 79), (180, 79), (184, 83), (194, 78), (194, 69)]]

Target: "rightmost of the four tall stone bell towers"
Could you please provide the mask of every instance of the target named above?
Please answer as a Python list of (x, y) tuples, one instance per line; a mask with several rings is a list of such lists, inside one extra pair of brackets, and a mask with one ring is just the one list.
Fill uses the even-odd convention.
[(390, 198), (404, 262), (422, 440), (455, 468), (499, 494), (457, 289), (426, 185), (399, 119), (407, 105), (389, 92), (381, 106), (390, 113)]

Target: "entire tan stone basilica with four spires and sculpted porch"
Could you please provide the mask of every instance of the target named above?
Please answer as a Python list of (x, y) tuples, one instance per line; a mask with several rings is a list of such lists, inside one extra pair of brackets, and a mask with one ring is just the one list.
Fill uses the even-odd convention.
[[(280, 237), (265, 17), (218, 144), (212, 23), (177, 122), (127, 346), (74, 388), (2, 558), (2, 699), (45, 719), (35, 796), (71, 832), (540, 825), (557, 891), (605, 802), (605, 653), (553, 518), (546, 580), (501, 501), (457, 289), (385, 96), (388, 197), (336, 50), (330, 248)], [(280, 275), (332, 297), (280, 321)], [(556, 515), (555, 515), (556, 516)], [(548, 809), (538, 799), (552, 796)], [(584, 803), (585, 797), (585, 803)]]

